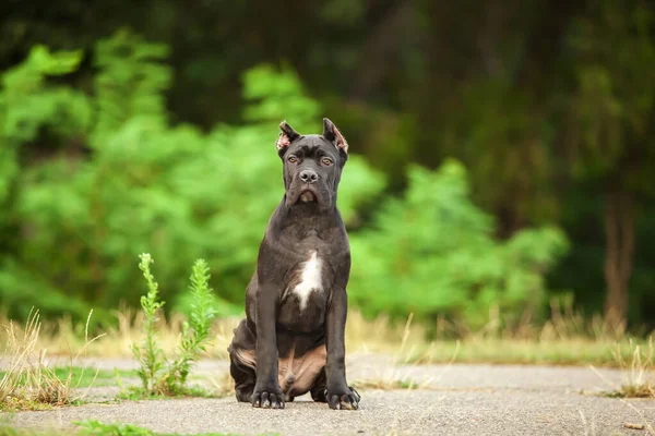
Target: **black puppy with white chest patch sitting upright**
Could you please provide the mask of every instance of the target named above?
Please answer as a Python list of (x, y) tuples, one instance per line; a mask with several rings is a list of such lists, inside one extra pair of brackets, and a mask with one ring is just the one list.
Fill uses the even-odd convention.
[(286, 121), (277, 140), (285, 195), (246, 290), (246, 319), (228, 348), (237, 400), (284, 408), (308, 391), (331, 409), (357, 409), (346, 383), (344, 328), (350, 249), (336, 191), (348, 144), (327, 119), (322, 135)]

